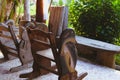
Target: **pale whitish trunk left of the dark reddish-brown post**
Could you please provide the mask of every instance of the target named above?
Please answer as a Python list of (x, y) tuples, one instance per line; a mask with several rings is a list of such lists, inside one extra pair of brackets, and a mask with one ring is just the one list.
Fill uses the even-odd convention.
[(24, 2), (24, 20), (31, 21), (30, 17), (30, 0)]

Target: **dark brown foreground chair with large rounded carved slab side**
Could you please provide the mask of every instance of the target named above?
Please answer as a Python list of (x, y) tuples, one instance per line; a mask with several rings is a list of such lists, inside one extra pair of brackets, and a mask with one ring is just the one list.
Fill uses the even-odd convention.
[[(78, 78), (75, 70), (77, 51), (75, 47), (75, 33), (73, 30), (64, 30), (60, 36), (59, 44), (56, 44), (56, 38), (52, 32), (44, 32), (40, 29), (29, 29), (28, 34), (32, 45), (31, 49), (34, 56), (34, 62), (36, 62), (40, 69), (45, 69), (59, 75), (59, 80), (82, 80), (82, 78), (86, 76), (87, 73)], [(40, 35), (42, 35), (41, 37), (46, 37), (49, 42), (40, 40)], [(37, 51), (39, 52), (37, 53)], [(46, 51), (49, 51), (49, 53), (46, 54)], [(42, 58), (45, 58), (44, 61)], [(46, 64), (46, 60), (55, 62), (57, 71), (49, 67), (51, 64)], [(33, 69), (36, 69), (37, 66), (34, 66), (35, 68)]]

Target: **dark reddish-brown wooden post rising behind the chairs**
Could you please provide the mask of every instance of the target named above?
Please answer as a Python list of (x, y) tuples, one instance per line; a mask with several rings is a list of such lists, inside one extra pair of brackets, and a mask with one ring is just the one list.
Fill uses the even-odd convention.
[(36, 2), (36, 21), (44, 22), (43, 0), (37, 0)]

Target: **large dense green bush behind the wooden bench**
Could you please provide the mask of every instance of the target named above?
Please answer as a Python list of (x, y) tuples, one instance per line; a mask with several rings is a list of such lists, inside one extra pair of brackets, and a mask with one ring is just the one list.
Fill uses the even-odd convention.
[(119, 0), (72, 0), (69, 22), (78, 35), (113, 43), (120, 36)]

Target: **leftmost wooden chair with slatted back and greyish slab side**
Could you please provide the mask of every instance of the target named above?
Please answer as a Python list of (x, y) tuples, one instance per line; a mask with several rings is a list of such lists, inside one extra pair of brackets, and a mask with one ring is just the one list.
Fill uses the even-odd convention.
[[(33, 60), (30, 43), (26, 31), (23, 31), (22, 38), (21, 40), (19, 40), (16, 37), (16, 34), (19, 35), (19, 29), (16, 28), (17, 27), (15, 27), (13, 20), (8, 20), (6, 23), (0, 24), (0, 49), (4, 55), (4, 59), (9, 60), (9, 55), (12, 55), (14, 57), (18, 57), (21, 62), (20, 66), (11, 68), (11, 72), (19, 71), (30, 67), (29, 62)], [(13, 29), (16, 29), (16, 32)]]

